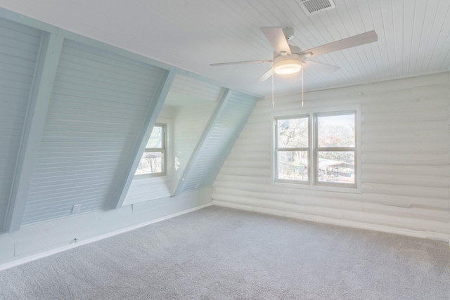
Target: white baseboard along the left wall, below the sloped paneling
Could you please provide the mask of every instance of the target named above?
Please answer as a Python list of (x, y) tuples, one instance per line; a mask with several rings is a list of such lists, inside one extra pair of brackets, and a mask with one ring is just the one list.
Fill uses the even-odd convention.
[(143, 226), (148, 226), (148, 225), (153, 224), (153, 223), (157, 223), (157, 222), (160, 222), (160, 221), (171, 219), (171, 218), (174, 218), (176, 216), (180, 216), (182, 214), (187, 214), (187, 213), (189, 213), (191, 211), (196, 211), (198, 209), (203, 209), (205, 207), (210, 207), (211, 205), (212, 205), (212, 203), (203, 204), (203, 205), (200, 205), (198, 207), (193, 207), (192, 209), (186, 209), (184, 211), (179, 211), (176, 214), (170, 214), (168, 216), (163, 216), (162, 218), (153, 219), (153, 220), (150, 220), (150, 221), (139, 223), (139, 224), (134, 225), (134, 226), (129, 226), (127, 228), (122, 228), (120, 230), (115, 230), (113, 232), (106, 233), (104, 235), (98, 235), (96, 237), (91, 237), (89, 239), (82, 240), (82, 241), (79, 241), (79, 242), (76, 242), (76, 243), (67, 244), (67, 245), (64, 245), (62, 247), (58, 247), (58, 248), (55, 248), (55, 249), (44, 251), (44, 252), (41, 252), (39, 254), (34, 254), (34, 255), (31, 255), (31, 256), (27, 256), (27, 257), (25, 257), (23, 259), (18, 259), (16, 261), (11, 261), (10, 263), (4, 263), (4, 264), (0, 265), (0, 271), (1, 270), (6, 270), (8, 268), (13, 268), (15, 266), (19, 266), (19, 265), (21, 265), (23, 263), (28, 263), (30, 261), (35, 261), (37, 259), (41, 259), (41, 258), (44, 258), (46, 256), (51, 256), (51, 255), (59, 253), (59, 252), (64, 252), (64, 251), (66, 251), (68, 249), (79, 247), (79, 246), (82, 246), (84, 244), (89, 244), (91, 242), (97, 242), (98, 240), (103, 240), (103, 239), (105, 239), (107, 237), (112, 237), (114, 235), (119, 235), (120, 233), (126, 233), (127, 231), (134, 230), (134, 229), (137, 229), (137, 228), (141, 228)]

